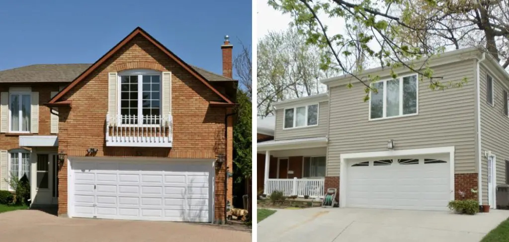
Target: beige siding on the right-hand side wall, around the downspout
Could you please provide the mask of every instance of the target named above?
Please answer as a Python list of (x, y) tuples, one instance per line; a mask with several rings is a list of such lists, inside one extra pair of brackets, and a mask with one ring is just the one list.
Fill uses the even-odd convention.
[[(495, 67), (489, 67), (495, 70)], [(493, 104), (487, 101), (487, 73), (493, 77)], [(501, 76), (494, 75), (480, 65), (480, 127), (481, 127), (481, 170), (483, 203), (488, 204), (488, 158), (485, 151), (491, 151), (496, 158), (496, 183), (505, 184), (505, 160), (509, 159), (509, 118), (503, 112), (502, 91), (509, 89), (502, 85)], [(504, 80), (507, 83), (507, 80)]]

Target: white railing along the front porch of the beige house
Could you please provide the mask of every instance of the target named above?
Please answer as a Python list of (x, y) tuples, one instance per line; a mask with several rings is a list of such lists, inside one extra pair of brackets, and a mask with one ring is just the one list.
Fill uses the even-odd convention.
[(285, 196), (308, 195), (313, 198), (323, 198), (325, 179), (267, 179), (265, 194), (282, 191)]

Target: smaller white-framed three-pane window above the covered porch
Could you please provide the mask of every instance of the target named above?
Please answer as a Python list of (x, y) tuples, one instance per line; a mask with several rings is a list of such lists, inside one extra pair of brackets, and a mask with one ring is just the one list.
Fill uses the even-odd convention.
[(318, 125), (318, 103), (283, 111), (283, 129)]

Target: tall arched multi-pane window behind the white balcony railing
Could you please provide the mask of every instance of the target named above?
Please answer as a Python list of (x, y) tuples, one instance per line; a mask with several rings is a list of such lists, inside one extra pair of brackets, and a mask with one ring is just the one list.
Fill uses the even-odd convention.
[(130, 70), (119, 73), (120, 124), (157, 125), (161, 118), (161, 73)]

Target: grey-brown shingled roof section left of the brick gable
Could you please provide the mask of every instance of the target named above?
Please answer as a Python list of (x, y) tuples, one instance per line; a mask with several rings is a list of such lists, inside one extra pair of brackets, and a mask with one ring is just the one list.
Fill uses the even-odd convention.
[(90, 64), (35, 64), (0, 71), (0, 83), (71, 82)]

